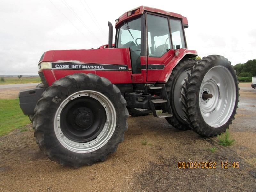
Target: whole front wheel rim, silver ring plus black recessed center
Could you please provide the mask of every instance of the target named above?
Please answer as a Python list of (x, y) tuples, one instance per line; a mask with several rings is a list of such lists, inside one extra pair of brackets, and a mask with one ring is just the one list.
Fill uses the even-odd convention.
[[(90, 113), (93, 113), (96, 109), (93, 109), (91, 106), (84, 106), (86, 105), (86, 100), (99, 103), (102, 109), (98, 106), (100, 109), (97, 108), (97, 110), (101, 110), (103, 112), (94, 114), (93, 119), (90, 119), (90, 117), (92, 117), (90, 116)], [(69, 122), (66, 118), (73, 113), (65, 112), (67, 111), (65, 109), (69, 107), (69, 110), (72, 112), (73, 106), (70, 107), (70, 105), (74, 102), (77, 102), (77, 105), (80, 105), (80, 107), (77, 107), (79, 108), (78, 112), (74, 112), (75, 118), (73, 121), (70, 120)], [(74, 108), (76, 108), (76, 106)], [(63, 115), (63, 113), (67, 113), (67, 115)], [(105, 116), (102, 116), (102, 114)], [(103, 119), (103, 121), (96, 124), (99, 125), (98, 131), (93, 128), (92, 125), (96, 120), (100, 121), (100, 119)], [(69, 126), (69, 129), (71, 130), (68, 130), (67, 127), (64, 128), (64, 124), (62, 122), (64, 122), (64, 124), (66, 122), (68, 122), (68, 124), (74, 124), (75, 122), (76, 126)], [(54, 132), (60, 144), (68, 150), (76, 153), (89, 153), (103, 147), (113, 135), (115, 127), (116, 110), (114, 105), (105, 95), (93, 90), (79, 91), (68, 96), (60, 104), (54, 117)], [(91, 135), (85, 134), (86, 132), (90, 132)], [(80, 133), (84, 134), (84, 137), (79, 135)], [(76, 136), (78, 137), (76, 138)]]

